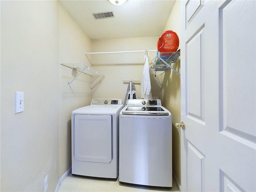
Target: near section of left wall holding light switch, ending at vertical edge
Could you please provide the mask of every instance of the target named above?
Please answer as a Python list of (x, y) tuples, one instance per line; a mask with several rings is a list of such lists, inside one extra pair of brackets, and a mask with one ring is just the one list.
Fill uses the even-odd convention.
[(44, 191), (46, 175), (56, 188), (58, 69), (58, 2), (1, 1), (1, 191)]

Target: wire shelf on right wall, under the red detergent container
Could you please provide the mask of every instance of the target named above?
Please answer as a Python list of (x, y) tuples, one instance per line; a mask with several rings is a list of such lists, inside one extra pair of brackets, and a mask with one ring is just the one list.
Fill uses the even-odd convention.
[(150, 66), (150, 71), (154, 70), (154, 74), (163, 74), (168, 68), (171, 68), (180, 76), (173, 66), (180, 60), (180, 50), (176, 52), (158, 52), (156, 58)]

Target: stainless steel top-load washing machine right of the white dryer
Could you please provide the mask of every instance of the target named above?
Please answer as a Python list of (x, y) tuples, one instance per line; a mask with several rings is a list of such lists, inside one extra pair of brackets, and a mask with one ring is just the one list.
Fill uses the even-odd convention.
[(119, 181), (172, 188), (171, 113), (160, 100), (130, 99), (119, 121)]

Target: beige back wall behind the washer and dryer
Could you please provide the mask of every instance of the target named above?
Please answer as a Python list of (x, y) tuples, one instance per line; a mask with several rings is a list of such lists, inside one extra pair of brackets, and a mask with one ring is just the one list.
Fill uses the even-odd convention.
[[(92, 52), (130, 50), (146, 52), (146, 50), (156, 50), (157, 40), (158, 37), (93, 40)], [(128, 83), (124, 83), (123, 80), (141, 80), (145, 52), (92, 55), (92, 67), (105, 75), (104, 80), (92, 90), (92, 98), (121, 98), (124, 102)], [(156, 52), (151, 52), (150, 55), (152, 60)], [(134, 84), (138, 98), (141, 98), (140, 83)], [(152, 96), (160, 95), (160, 88), (154, 86), (154, 83), (152, 86)]]

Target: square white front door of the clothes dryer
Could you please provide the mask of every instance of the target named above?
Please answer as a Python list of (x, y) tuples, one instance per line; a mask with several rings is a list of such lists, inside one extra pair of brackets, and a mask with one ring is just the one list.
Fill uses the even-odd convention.
[(110, 115), (74, 116), (74, 157), (78, 161), (111, 162), (112, 122)]

